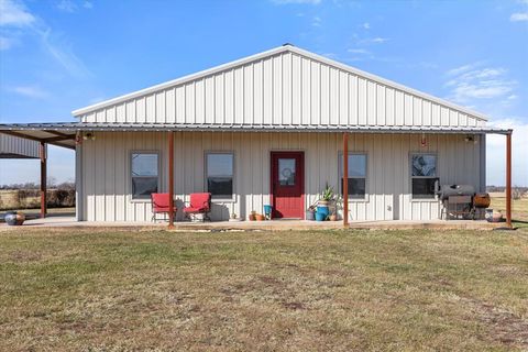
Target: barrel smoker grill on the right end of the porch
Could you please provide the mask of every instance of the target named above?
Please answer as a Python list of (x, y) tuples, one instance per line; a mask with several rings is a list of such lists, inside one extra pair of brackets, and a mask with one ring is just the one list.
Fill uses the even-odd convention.
[(443, 204), (442, 219), (476, 219), (477, 209), (490, 207), (490, 195), (475, 193), (472, 185), (441, 185), (437, 195)]

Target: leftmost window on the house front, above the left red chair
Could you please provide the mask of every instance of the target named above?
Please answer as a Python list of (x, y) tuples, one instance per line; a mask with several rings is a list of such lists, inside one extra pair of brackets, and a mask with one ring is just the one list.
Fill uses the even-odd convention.
[(157, 193), (158, 155), (157, 153), (132, 153), (132, 199), (147, 199)]

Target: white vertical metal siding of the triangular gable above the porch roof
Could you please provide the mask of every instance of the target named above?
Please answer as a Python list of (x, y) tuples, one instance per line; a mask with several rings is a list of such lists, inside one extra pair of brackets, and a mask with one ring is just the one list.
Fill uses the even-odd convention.
[(82, 122), (476, 127), (485, 121), (282, 52), (80, 116)]

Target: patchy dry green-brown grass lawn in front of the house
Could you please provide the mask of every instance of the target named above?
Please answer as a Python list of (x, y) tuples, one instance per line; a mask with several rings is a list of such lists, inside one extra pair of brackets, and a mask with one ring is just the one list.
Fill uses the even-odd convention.
[(0, 233), (0, 350), (528, 349), (528, 229)]

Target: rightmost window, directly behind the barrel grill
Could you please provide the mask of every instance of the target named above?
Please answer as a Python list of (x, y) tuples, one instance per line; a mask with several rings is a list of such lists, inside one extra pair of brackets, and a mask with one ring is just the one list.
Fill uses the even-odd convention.
[(433, 199), (437, 177), (437, 155), (411, 154), (410, 179), (413, 199)]

